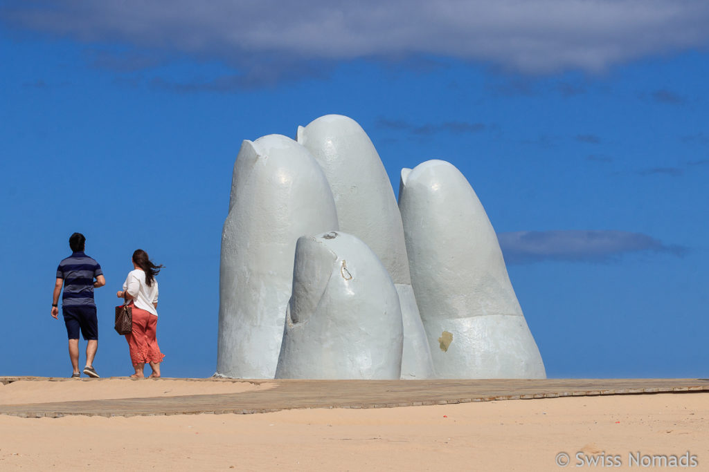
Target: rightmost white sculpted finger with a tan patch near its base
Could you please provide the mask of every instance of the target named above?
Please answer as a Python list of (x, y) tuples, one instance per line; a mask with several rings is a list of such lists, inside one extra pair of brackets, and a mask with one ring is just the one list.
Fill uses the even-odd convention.
[(462, 173), (437, 160), (403, 169), (399, 208), (437, 375), (545, 378), (495, 231)]

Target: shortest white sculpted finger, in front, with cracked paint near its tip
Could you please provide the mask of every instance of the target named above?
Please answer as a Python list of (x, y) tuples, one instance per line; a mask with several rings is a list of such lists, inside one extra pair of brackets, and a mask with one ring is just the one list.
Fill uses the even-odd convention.
[(277, 379), (399, 379), (403, 326), (374, 252), (333, 231), (298, 239)]

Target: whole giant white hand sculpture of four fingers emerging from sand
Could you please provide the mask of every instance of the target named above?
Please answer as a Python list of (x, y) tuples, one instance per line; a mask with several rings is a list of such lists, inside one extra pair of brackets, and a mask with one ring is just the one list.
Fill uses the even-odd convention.
[(404, 169), (397, 207), (357, 122), (327, 115), (297, 134), (245, 141), (234, 165), (218, 375), (545, 376), (495, 232), (454, 166)]

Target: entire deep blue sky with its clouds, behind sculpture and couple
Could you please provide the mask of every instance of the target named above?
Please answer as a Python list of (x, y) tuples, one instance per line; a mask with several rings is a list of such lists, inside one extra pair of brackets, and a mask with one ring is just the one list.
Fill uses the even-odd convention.
[(71, 374), (50, 299), (74, 231), (108, 282), (99, 373), (130, 374), (113, 306), (143, 248), (164, 375), (213, 374), (240, 143), (340, 113), (395, 191), (428, 159), (466, 175), (549, 376), (709, 377), (708, 23), (695, 1), (0, 1), (0, 375)]

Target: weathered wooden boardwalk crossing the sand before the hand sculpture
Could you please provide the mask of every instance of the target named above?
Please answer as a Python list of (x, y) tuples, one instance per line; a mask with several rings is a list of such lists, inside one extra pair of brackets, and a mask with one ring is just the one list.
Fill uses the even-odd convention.
[[(18, 380), (69, 379), (0, 377)], [(85, 379), (84, 381), (104, 381)], [(0, 405), (0, 414), (24, 418), (65, 415), (135, 416), (198, 413), (267, 413), (292, 408), (392, 408), (446, 405), (474, 401), (556, 398), (564, 396), (688, 393), (709, 391), (709, 379), (494, 379), (494, 380), (232, 380), (181, 379), (199, 382), (250, 382), (268, 385), (261, 391), (160, 398), (65, 401)], [(169, 382), (171, 379), (146, 381)]]

